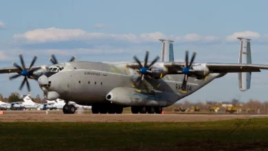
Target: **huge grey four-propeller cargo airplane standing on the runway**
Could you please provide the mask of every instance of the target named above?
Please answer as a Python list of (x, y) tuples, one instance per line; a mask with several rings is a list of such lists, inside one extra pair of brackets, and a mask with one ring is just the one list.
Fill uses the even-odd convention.
[(54, 65), (34, 67), (36, 56), (30, 67), (25, 67), (20, 55), (21, 65), (0, 69), (0, 73), (18, 73), (10, 77), (23, 76), (20, 89), (28, 78), (38, 81), (46, 100), (65, 100), (63, 113), (74, 114), (76, 106), (92, 106), (92, 113), (122, 113), (123, 108), (131, 106), (132, 113), (161, 113), (162, 108), (170, 106), (191, 95), (216, 78), (227, 73), (238, 73), (239, 89), (250, 89), (252, 72), (268, 69), (268, 65), (252, 64), (250, 39), (238, 37), (240, 50), (238, 63), (194, 62), (196, 52), (185, 62), (174, 62), (173, 41), (161, 40), (161, 60), (157, 56), (148, 62), (146, 51), (144, 62), (134, 56), (135, 62), (89, 62), (74, 61), (59, 63), (52, 55)]

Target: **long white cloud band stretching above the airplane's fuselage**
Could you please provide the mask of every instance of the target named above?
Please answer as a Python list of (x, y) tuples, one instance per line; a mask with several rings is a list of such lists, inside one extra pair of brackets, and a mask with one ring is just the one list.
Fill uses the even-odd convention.
[(219, 40), (216, 36), (200, 36), (198, 34), (186, 34), (185, 36), (167, 36), (161, 32), (142, 34), (107, 34), (102, 32), (85, 32), (80, 29), (60, 29), (47, 28), (25, 32), (24, 34), (14, 34), (14, 38), (22, 40), (28, 44), (62, 42), (69, 40), (79, 40), (91, 42), (98, 41), (118, 41), (120, 43), (159, 43), (159, 38), (168, 38), (176, 42), (215, 42)]

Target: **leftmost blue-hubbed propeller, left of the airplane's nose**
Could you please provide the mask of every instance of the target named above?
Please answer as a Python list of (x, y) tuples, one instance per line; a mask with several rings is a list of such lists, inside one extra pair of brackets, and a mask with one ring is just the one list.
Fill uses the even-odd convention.
[(34, 58), (32, 59), (32, 62), (30, 64), (30, 67), (29, 68), (26, 68), (25, 67), (25, 63), (24, 63), (24, 60), (23, 60), (23, 56), (22, 54), (19, 55), (19, 58), (21, 60), (21, 66), (19, 66), (18, 64), (16, 64), (16, 62), (13, 62), (13, 66), (16, 67), (17, 69), (19, 69), (19, 73), (16, 74), (16, 75), (12, 75), (10, 76), (9, 80), (13, 80), (15, 78), (19, 78), (21, 75), (24, 76), (24, 79), (23, 81), (21, 82), (21, 86), (19, 87), (19, 91), (21, 91), (21, 89), (23, 88), (25, 82), (27, 84), (27, 90), (28, 92), (30, 93), (31, 92), (31, 88), (30, 88), (30, 84), (28, 82), (28, 78), (35, 78), (34, 76), (34, 71), (38, 70), (38, 69), (41, 69), (41, 67), (37, 67), (37, 68), (32, 68), (34, 63), (36, 62), (36, 59), (37, 59), (37, 56), (34, 56)]

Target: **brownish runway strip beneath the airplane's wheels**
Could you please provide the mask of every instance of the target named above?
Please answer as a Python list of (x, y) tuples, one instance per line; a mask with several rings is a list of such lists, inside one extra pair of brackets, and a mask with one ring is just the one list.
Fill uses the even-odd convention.
[[(26, 111), (27, 112), (27, 111)], [(253, 115), (187, 115), (187, 114), (162, 114), (162, 115), (133, 115), (133, 114), (74, 114), (64, 115), (63, 113), (45, 112), (26, 113), (25, 111), (12, 111), (0, 115), (0, 122), (139, 122), (139, 121), (157, 121), (157, 122), (186, 122), (186, 121), (219, 121), (226, 119), (247, 119), (256, 117)], [(261, 115), (259, 115), (261, 117)]]

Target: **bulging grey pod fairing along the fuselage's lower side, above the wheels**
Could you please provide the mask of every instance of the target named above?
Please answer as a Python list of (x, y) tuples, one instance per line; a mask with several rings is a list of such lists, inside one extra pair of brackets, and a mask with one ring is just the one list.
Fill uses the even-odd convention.
[(117, 87), (110, 91), (106, 99), (114, 104), (124, 106), (170, 106), (177, 100), (176, 93), (155, 92), (153, 94), (139, 93), (137, 89), (128, 87)]

